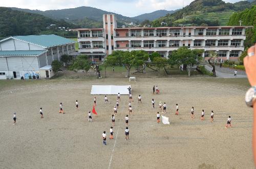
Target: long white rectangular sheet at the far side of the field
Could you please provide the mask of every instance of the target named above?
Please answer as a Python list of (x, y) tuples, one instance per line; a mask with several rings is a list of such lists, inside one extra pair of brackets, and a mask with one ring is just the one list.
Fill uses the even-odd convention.
[(131, 87), (131, 85), (92, 85), (91, 94), (129, 94), (129, 90), (127, 89), (129, 86)]

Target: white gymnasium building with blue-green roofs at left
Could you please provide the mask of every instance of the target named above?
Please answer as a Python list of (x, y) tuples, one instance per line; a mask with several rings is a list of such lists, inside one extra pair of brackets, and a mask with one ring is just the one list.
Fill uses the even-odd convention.
[(60, 36), (11, 36), (0, 41), (0, 79), (49, 78), (52, 61), (73, 52), (75, 41)]

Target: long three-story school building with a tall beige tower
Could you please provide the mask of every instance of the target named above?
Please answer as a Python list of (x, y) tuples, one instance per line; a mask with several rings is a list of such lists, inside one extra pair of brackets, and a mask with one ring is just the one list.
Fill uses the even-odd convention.
[(117, 28), (114, 14), (103, 15), (103, 28), (75, 29), (78, 32), (79, 53), (102, 61), (115, 50), (144, 50), (148, 54), (158, 52), (167, 57), (180, 46), (203, 49), (205, 60), (210, 51), (218, 59), (238, 60), (244, 51), (245, 30), (251, 26), (223, 27), (157, 27)]

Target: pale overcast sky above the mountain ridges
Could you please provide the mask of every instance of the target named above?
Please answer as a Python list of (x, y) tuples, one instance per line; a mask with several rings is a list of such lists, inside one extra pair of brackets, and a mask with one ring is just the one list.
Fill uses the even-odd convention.
[[(239, 0), (224, 0), (235, 3)], [(76, 8), (80, 6), (95, 7), (104, 11), (124, 16), (137, 16), (156, 10), (175, 10), (189, 5), (193, 0), (0, 0), (1, 7), (17, 7), (37, 10)]]

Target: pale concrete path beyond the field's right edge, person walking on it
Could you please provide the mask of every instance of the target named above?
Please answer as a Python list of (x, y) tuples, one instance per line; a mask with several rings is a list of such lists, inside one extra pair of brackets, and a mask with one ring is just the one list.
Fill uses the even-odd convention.
[[(208, 71), (212, 70), (212, 67), (210, 65), (204, 65), (204, 66), (205, 66), (205, 69), (207, 69)], [(234, 77), (234, 69), (232, 68), (216, 66), (215, 71), (216, 71), (216, 76), (219, 78), (247, 78), (244, 70), (237, 69), (238, 71), (237, 77)]]

